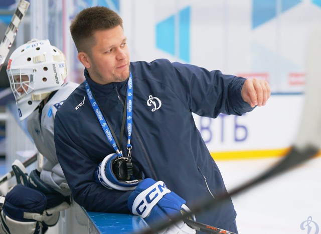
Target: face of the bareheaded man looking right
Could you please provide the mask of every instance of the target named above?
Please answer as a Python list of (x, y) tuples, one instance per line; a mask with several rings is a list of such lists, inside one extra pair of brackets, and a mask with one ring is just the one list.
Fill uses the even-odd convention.
[(96, 31), (95, 45), (86, 66), (97, 83), (120, 82), (129, 77), (129, 50), (121, 26)]

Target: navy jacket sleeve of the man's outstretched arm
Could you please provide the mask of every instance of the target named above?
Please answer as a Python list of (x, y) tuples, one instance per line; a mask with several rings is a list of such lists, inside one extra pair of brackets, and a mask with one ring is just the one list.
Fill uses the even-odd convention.
[(219, 70), (209, 71), (191, 64), (162, 60), (168, 67), (163, 69), (168, 73), (163, 77), (170, 77), (165, 82), (192, 112), (217, 117), (220, 113), (242, 115), (254, 109), (241, 96), (245, 78), (222, 74)]

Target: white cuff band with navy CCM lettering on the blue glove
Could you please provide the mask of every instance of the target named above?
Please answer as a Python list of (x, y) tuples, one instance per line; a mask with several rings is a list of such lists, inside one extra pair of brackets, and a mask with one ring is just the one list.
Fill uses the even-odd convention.
[(151, 211), (152, 207), (160, 200), (166, 193), (170, 193), (163, 181), (157, 181), (150, 187), (139, 193), (135, 198), (132, 213), (140, 215), (145, 218)]

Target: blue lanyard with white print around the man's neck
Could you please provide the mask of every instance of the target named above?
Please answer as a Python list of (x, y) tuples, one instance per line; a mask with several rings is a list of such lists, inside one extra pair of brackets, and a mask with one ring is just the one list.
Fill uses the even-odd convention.
[[(105, 120), (105, 117), (103, 116), (102, 112), (100, 111), (100, 108), (91, 92), (89, 83), (87, 80), (85, 81), (85, 88), (86, 88), (86, 93), (88, 95), (89, 101), (91, 103), (92, 108), (94, 109), (96, 116), (99, 120), (99, 123), (104, 130), (108, 141), (112, 145), (112, 147), (115, 149), (116, 153), (118, 154), (119, 158), (122, 158), (122, 152), (121, 148), (118, 149), (117, 143), (114, 139), (114, 136), (112, 134), (112, 131), (110, 130), (107, 121)], [(132, 76), (131, 73), (129, 73), (129, 79), (128, 79), (128, 84), (127, 84), (127, 109), (126, 109), (126, 125), (127, 125), (127, 131), (128, 131), (128, 139), (127, 139), (127, 149), (128, 149), (128, 157), (130, 157), (130, 149), (132, 148), (132, 145), (130, 144), (130, 136), (131, 136), (131, 131), (132, 131), (132, 98), (133, 98), (133, 87), (132, 87)], [(125, 106), (126, 107), (126, 106)], [(120, 139), (121, 140), (121, 139)], [(130, 158), (129, 158), (130, 160)]]

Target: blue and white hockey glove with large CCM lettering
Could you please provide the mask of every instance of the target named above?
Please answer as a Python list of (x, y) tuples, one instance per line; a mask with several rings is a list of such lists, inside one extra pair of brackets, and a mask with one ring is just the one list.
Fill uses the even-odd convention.
[[(146, 178), (141, 181), (128, 197), (128, 208), (151, 224), (155, 221), (169, 220), (170, 216), (189, 211), (186, 201), (168, 189), (163, 181)], [(192, 217), (195, 220), (195, 216)], [(196, 233), (184, 221), (163, 230), (162, 233)]]

